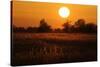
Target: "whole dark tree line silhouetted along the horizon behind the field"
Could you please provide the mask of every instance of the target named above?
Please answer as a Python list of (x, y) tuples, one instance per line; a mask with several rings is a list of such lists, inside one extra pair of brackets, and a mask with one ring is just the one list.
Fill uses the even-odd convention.
[(16, 27), (12, 26), (13, 32), (29, 32), (29, 33), (44, 33), (44, 32), (58, 32), (58, 33), (97, 33), (97, 25), (93, 23), (86, 23), (84, 19), (78, 19), (73, 25), (71, 21), (66, 21), (62, 25), (62, 29), (52, 29), (45, 19), (40, 20), (39, 27)]

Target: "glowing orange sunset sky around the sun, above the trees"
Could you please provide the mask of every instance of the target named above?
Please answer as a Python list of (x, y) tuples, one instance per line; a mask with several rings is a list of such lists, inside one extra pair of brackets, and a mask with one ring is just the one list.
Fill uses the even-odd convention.
[[(59, 16), (58, 10), (63, 6), (70, 9), (70, 15), (67, 18)], [(96, 9), (96, 6), (90, 5), (14, 1), (12, 22), (18, 27), (25, 28), (39, 26), (43, 18), (52, 28), (61, 28), (67, 19), (72, 21), (71, 24), (80, 18), (96, 24)]]

